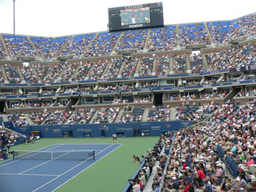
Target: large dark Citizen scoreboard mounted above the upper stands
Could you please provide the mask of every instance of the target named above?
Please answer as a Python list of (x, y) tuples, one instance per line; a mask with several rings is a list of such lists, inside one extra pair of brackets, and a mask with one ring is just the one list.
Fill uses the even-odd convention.
[(162, 2), (109, 8), (109, 30), (164, 26)]

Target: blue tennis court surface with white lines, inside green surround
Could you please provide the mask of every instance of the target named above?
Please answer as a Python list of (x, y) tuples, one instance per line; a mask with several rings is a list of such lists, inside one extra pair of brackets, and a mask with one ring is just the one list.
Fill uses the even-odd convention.
[[(0, 163), (0, 191), (52, 191), (116, 150), (122, 144), (58, 144), (38, 151), (94, 150), (93, 159), (9, 159)], [(29, 154), (26, 154), (29, 155)], [(26, 156), (25, 156), (26, 157)]]

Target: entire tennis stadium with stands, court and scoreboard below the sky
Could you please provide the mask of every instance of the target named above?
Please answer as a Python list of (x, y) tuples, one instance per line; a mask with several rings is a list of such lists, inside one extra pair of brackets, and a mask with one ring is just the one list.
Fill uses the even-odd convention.
[(158, 2), (0, 34), (0, 191), (255, 191), (255, 26), (165, 25)]

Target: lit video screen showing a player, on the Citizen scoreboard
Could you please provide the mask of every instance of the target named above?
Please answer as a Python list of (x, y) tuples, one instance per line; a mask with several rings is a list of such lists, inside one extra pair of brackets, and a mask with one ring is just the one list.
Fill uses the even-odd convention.
[(121, 10), (121, 26), (150, 23), (150, 7)]

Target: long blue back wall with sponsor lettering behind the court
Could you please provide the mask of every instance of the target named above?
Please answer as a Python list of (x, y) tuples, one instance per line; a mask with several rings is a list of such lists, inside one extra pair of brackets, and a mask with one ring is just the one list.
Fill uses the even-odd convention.
[(138, 123), (110, 123), (110, 124), (90, 124), (90, 125), (60, 125), (60, 126), (21, 126), (10, 127), (13, 130), (29, 135), (32, 130), (39, 130), (42, 138), (62, 138), (63, 131), (73, 130), (74, 138), (101, 137), (102, 129), (106, 137), (111, 137), (113, 133), (123, 133), (126, 137), (134, 136), (134, 129), (141, 130), (141, 133), (148, 133), (150, 136), (161, 135), (165, 131), (179, 130), (193, 125), (194, 122), (138, 122)]

